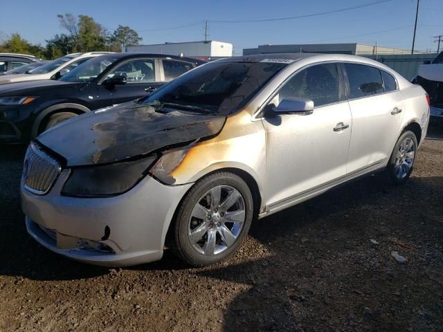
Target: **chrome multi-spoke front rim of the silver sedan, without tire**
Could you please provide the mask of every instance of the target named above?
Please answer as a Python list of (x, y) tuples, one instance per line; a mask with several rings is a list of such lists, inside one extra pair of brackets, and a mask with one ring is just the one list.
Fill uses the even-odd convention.
[(215, 256), (233, 246), (246, 219), (242, 194), (229, 185), (206, 192), (192, 209), (188, 237), (201, 255)]

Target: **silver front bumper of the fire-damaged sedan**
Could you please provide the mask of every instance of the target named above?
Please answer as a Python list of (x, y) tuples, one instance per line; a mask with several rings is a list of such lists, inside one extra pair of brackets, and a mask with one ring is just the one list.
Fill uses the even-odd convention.
[[(21, 186), (26, 228), (35, 240), (57, 254), (101, 266), (161, 259), (170, 221), (192, 184), (167, 186), (147, 176), (125, 194), (87, 199), (60, 195), (68, 174), (63, 171), (46, 195), (32, 194)], [(111, 250), (85, 249), (79, 244), (84, 239)]]

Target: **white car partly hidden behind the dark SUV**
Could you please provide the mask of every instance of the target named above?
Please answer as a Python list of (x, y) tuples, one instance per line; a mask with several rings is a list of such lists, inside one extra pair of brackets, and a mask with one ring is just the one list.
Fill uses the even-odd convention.
[(64, 57), (59, 57), (43, 66), (39, 66), (32, 71), (18, 75), (3, 75), (0, 76), (0, 84), (8, 84), (15, 82), (25, 82), (34, 80), (57, 80), (66, 73), (69, 73), (73, 68), (82, 64), (82, 62), (91, 59), (92, 57), (99, 57), (100, 55), (109, 54), (113, 52), (89, 52), (89, 53), (71, 53)]

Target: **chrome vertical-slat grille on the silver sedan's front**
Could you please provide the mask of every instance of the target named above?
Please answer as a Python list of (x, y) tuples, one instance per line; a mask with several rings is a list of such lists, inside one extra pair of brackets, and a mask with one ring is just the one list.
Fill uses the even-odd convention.
[(61, 169), (57, 160), (45, 154), (31, 142), (23, 165), (23, 185), (26, 190), (34, 194), (46, 194), (57, 180)]

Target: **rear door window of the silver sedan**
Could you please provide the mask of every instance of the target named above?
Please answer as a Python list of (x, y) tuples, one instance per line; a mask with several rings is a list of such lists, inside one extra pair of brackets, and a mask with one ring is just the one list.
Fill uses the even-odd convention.
[(384, 91), (378, 68), (364, 64), (344, 64), (344, 66), (350, 87), (348, 99), (366, 97)]

